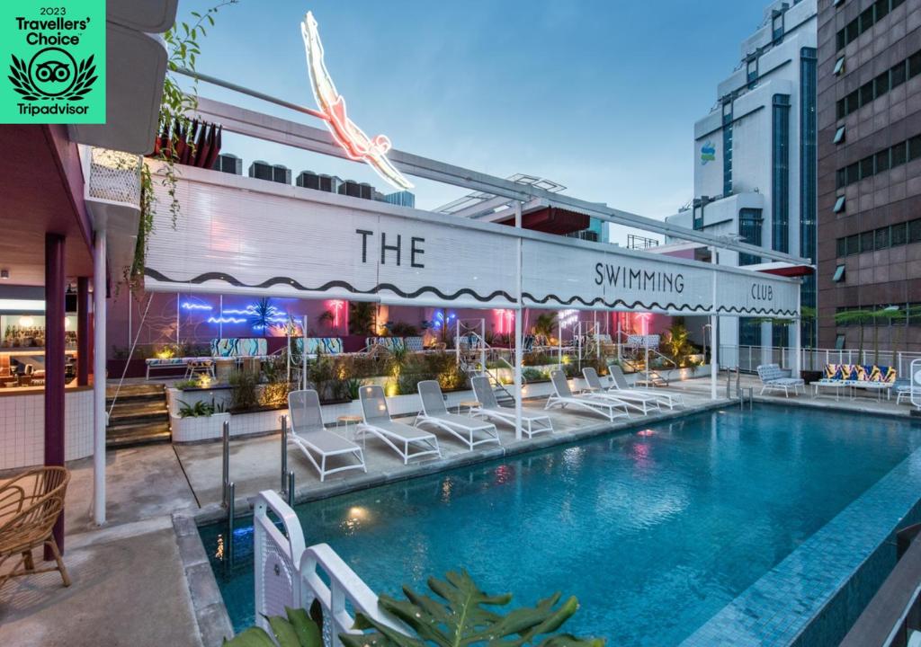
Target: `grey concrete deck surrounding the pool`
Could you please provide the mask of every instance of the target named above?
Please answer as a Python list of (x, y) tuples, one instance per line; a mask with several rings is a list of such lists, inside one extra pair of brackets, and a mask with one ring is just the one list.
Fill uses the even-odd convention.
[[(758, 397), (760, 383), (756, 377), (742, 375), (740, 382), (743, 387), (757, 386), (755, 399), (759, 401), (898, 416), (907, 416), (912, 409), (895, 405), (894, 399), (877, 401), (872, 395), (839, 401), (834, 397)], [(723, 399), (725, 374), (718, 385), (721, 399), (717, 402), (709, 399), (708, 379), (687, 380), (668, 390), (682, 393), (688, 408), (649, 416), (634, 414), (630, 420), (614, 424), (589, 412), (551, 410), (548, 415), (554, 422), (553, 435), (516, 441), (511, 428), (500, 425), (503, 445), (481, 445), (473, 452), (466, 451), (449, 434), (437, 433), (443, 457), (409, 466), (403, 466), (386, 445), (368, 438), (367, 474), (343, 472), (324, 483), (292, 445), (288, 468), (296, 474), (297, 501), (307, 501), (728, 403)], [(542, 410), (542, 401), (527, 402), (526, 407)], [(237, 484), (239, 514), (248, 512), (248, 500), (258, 491), (279, 489), (280, 445), (277, 433), (231, 443), (230, 477)], [(67, 492), (64, 560), (74, 583), (64, 588), (56, 573), (6, 583), (0, 589), (0, 644), (220, 644), (229, 633), (229, 624), (192, 519), (205, 521), (225, 514), (220, 507), (221, 444), (110, 451), (108, 524), (103, 528), (93, 525), (88, 507), (92, 501), (91, 460), (76, 461), (68, 467), (73, 474)]]

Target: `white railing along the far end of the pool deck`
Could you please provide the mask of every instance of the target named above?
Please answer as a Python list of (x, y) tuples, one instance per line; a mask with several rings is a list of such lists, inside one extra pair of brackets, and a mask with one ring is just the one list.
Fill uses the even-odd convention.
[[(759, 364), (780, 364), (781, 368), (792, 369), (796, 366), (796, 350), (789, 347), (772, 348), (769, 346), (719, 346), (718, 361), (720, 366), (735, 368), (754, 373)], [(896, 375), (907, 377), (910, 364), (921, 359), (921, 352), (910, 351), (873, 351), (872, 349), (800, 349), (800, 366), (804, 371), (821, 371), (825, 364), (877, 364), (894, 366)]]

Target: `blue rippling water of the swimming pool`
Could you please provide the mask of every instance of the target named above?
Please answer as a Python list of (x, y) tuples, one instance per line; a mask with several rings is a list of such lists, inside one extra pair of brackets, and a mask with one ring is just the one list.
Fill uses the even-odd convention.
[[(681, 642), (921, 445), (908, 422), (762, 405), (297, 507), (377, 592), (465, 568), (530, 604), (577, 595), (565, 629), (610, 645)], [(235, 629), (253, 622), (251, 526), (216, 559)], [(249, 539), (249, 545), (248, 545)]]

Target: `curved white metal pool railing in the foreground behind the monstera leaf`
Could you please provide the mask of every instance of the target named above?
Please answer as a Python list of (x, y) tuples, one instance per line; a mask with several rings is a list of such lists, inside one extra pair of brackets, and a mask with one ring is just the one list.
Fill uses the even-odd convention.
[(378, 596), (332, 548), (304, 547), (297, 514), (274, 491), (259, 493), (253, 533), (256, 621), (263, 630), (271, 634), (264, 617), (285, 616), (285, 607), (309, 609), (316, 600), (323, 614), (325, 647), (341, 647), (342, 633), (361, 633), (353, 629), (359, 611), (392, 630), (408, 632), (380, 610)]

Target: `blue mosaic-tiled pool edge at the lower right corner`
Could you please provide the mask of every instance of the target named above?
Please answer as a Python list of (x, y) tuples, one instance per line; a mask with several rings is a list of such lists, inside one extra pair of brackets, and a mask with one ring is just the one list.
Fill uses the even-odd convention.
[[(838, 644), (892, 570), (896, 530), (921, 519), (919, 497), (921, 449), (694, 631), (682, 647)], [(857, 530), (868, 515), (874, 517), (874, 530)]]

